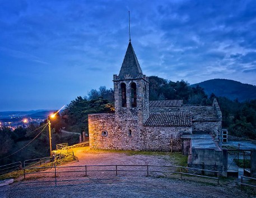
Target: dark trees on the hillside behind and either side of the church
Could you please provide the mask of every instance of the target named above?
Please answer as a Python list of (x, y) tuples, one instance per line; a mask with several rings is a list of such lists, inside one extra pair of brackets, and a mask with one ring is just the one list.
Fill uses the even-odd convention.
[[(238, 137), (256, 139), (256, 100), (240, 102), (238, 99), (230, 100), (215, 93), (207, 95), (200, 86), (190, 86), (187, 81), (170, 81), (150, 76), (150, 100), (181, 99), (184, 104), (212, 105), (217, 98), (222, 112), (222, 127), (229, 130), (229, 134)], [(65, 136), (60, 128), (66, 131), (88, 133), (88, 114), (114, 113), (114, 91), (101, 86), (99, 90), (92, 89), (86, 96), (78, 96), (63, 110), (52, 122), (53, 148), (58, 143), (68, 142), (69, 145), (78, 143), (77, 137)], [(6, 164), (14, 161), (24, 161), (31, 158), (49, 156), (48, 127), (31, 123), (27, 128), (17, 128), (11, 132), (8, 128), (0, 129), (0, 163)], [(41, 127), (40, 129), (37, 129)], [(44, 128), (44, 129), (43, 129)], [(43, 131), (41, 132), (41, 130)], [(41, 132), (41, 133), (40, 133)], [(30, 143), (30, 141), (40, 135)], [(6, 157), (18, 149), (26, 148)], [(4, 158), (6, 157), (6, 158)], [(2, 159), (4, 158), (4, 159)], [(2, 160), (1, 160), (2, 159)]]

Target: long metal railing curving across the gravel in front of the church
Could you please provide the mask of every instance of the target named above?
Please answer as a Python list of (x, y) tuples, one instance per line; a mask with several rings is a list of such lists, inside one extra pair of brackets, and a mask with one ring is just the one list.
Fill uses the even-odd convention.
[[(128, 167), (128, 168), (125, 168)], [(136, 169), (132, 169), (131, 167), (136, 167)], [(138, 169), (138, 167), (142, 169)], [(67, 168), (68, 170), (63, 170)], [(167, 169), (167, 170), (162, 170), (162, 169)], [(173, 168), (173, 170), (170, 170)], [(31, 172), (31, 170), (40, 170), (41, 167), (35, 167), (35, 168), (24, 168), (24, 179), (26, 178), (26, 175), (31, 175), (31, 174), (39, 174), (42, 172)], [(27, 171), (26, 171), (27, 170)], [(188, 173), (188, 170), (193, 170), (193, 171), (202, 171), (202, 172), (211, 172), (215, 176), (204, 176), (204, 175), (198, 175), (196, 173)], [(160, 166), (160, 165), (84, 165), (84, 166), (54, 166), (53, 171), (46, 171), (43, 172), (44, 177), (45, 174), (49, 173), (54, 173), (54, 176), (51, 176), (50, 178), (54, 177), (54, 181), (43, 181), (43, 182), (55, 182), (55, 186), (57, 186), (57, 182), (67, 182), (67, 181), (83, 181), (78, 179), (78, 175), (74, 175), (73, 173), (85, 173), (84, 176), (89, 176), (88, 173), (90, 172), (101, 172), (100, 177), (103, 178), (102, 173), (103, 172), (114, 172), (115, 176), (120, 174), (120, 172), (126, 172), (126, 175), (128, 173), (132, 172), (144, 172), (146, 173), (146, 176), (150, 176), (152, 173), (174, 173), (174, 174), (179, 174), (180, 178), (183, 177), (183, 175), (188, 175), (188, 176), (197, 176), (197, 177), (204, 177), (204, 178), (210, 178), (213, 180), (217, 180), (217, 185), (219, 184), (219, 175), (218, 171), (211, 171), (211, 170), (205, 170), (205, 169), (199, 169), (199, 168), (189, 168), (189, 167), (183, 167), (183, 166)], [(127, 173), (128, 172), (128, 173)], [(60, 178), (60, 180), (57, 181), (57, 178), (60, 177), (61, 173), (72, 173), (72, 177), (75, 177), (72, 180), (63, 180)], [(57, 176), (58, 174), (58, 176)], [(81, 175), (80, 175), (81, 176)], [(109, 175), (107, 175), (109, 178)], [(65, 176), (64, 178), (67, 178)], [(40, 182), (40, 181), (36, 181)]]

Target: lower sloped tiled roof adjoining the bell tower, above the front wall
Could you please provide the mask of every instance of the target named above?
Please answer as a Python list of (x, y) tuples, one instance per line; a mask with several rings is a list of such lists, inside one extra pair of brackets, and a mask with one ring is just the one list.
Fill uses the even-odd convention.
[(192, 115), (190, 112), (151, 113), (145, 125), (149, 127), (190, 127)]

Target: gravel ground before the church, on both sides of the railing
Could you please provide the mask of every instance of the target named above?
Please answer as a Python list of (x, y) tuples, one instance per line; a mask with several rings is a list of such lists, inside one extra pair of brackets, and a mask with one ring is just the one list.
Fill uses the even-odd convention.
[[(240, 191), (238, 180), (221, 180), (220, 186), (213, 180), (198, 177), (183, 177), (166, 173), (146, 172), (142, 167), (115, 166), (99, 172), (101, 167), (87, 167), (85, 165), (176, 165), (175, 158), (170, 153), (150, 152), (106, 152), (90, 151), (89, 148), (75, 148), (79, 162), (71, 162), (57, 167), (57, 186), (54, 173), (46, 170), (33, 175), (26, 175), (26, 179), (18, 178), (11, 185), (0, 187), (0, 197), (249, 197)], [(67, 166), (83, 166), (68, 168)], [(125, 170), (137, 170), (129, 172)], [(151, 167), (153, 168), (153, 167)], [(109, 170), (109, 171), (108, 171)], [(144, 172), (141, 172), (144, 170)], [(152, 170), (152, 169), (151, 169)], [(175, 168), (173, 169), (175, 170)], [(83, 172), (62, 172), (83, 171)], [(164, 170), (163, 170), (164, 171)], [(170, 170), (169, 170), (170, 171)], [(73, 180), (73, 181), (65, 181)], [(75, 181), (76, 180), (76, 181)], [(50, 181), (50, 182), (49, 182)]]

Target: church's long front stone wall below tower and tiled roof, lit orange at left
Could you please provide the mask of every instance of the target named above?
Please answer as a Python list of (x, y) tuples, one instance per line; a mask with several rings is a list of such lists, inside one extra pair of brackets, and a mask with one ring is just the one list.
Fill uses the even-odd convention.
[[(131, 113), (131, 112), (130, 112)], [(182, 134), (192, 134), (191, 127), (144, 127), (133, 114), (90, 114), (91, 148), (142, 151), (181, 151)], [(128, 119), (129, 118), (129, 119)], [(118, 120), (118, 122), (117, 122)], [(103, 132), (107, 132), (104, 136)]]

